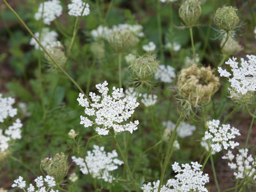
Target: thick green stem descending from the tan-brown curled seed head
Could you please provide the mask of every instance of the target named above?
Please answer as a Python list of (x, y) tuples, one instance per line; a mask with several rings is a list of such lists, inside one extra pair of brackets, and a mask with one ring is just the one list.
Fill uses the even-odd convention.
[(164, 159), (164, 164), (163, 164), (163, 170), (162, 170), (162, 174), (161, 174), (161, 177), (160, 177), (160, 183), (159, 183), (159, 187), (158, 187), (158, 192), (160, 192), (162, 184), (163, 184), (164, 173), (165, 173), (167, 164), (169, 162), (169, 159), (171, 157), (170, 156), (170, 152), (171, 152), (171, 149), (172, 149), (173, 140), (175, 138), (175, 134), (177, 132), (178, 126), (179, 126), (180, 122), (182, 121), (182, 119), (183, 119), (183, 114), (180, 114), (180, 117), (179, 117), (179, 119), (178, 119), (178, 121), (177, 121), (177, 123), (175, 125), (175, 129), (174, 129), (174, 131), (172, 133), (171, 139), (170, 139), (168, 147), (167, 147), (167, 151), (166, 151), (166, 155), (165, 155), (165, 159)]

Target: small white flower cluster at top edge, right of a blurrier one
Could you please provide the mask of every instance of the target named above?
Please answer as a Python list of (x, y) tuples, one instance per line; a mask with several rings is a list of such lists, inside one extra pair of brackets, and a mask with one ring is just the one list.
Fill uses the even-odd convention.
[[(82, 0), (71, 0), (71, 4), (68, 4), (69, 15), (73, 15), (75, 17), (89, 15), (90, 8), (89, 4), (85, 3)], [(83, 13), (83, 14), (82, 14)]]

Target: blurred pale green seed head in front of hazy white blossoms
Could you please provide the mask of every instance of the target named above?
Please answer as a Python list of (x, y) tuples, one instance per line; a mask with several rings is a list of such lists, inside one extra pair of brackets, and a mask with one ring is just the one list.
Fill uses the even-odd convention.
[(139, 39), (131, 30), (114, 30), (110, 33), (108, 42), (117, 53), (123, 53), (127, 49), (135, 47), (139, 43)]

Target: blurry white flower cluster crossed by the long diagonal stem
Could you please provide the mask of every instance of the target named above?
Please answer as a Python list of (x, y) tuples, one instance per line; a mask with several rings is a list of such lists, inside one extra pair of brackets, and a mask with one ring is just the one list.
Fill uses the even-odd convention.
[[(39, 39), (39, 32), (35, 33), (35, 37), (39, 40), (39, 42), (44, 47), (46, 47), (47, 45), (51, 45), (52, 42), (57, 41), (58, 34), (55, 31), (50, 31), (49, 28), (43, 28), (40, 39)], [(34, 38), (31, 38), (29, 44), (35, 46), (36, 50), (39, 49), (39, 45)]]

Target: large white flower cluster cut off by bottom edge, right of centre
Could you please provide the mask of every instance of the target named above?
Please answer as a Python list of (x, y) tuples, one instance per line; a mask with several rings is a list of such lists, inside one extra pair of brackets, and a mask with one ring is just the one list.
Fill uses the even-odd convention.
[[(183, 169), (181, 168), (183, 167)], [(179, 163), (175, 162), (172, 165), (172, 169), (175, 173), (176, 179), (169, 179), (166, 185), (161, 186), (161, 192), (189, 192), (189, 191), (208, 191), (204, 186), (209, 182), (209, 175), (203, 174), (200, 167), (202, 165), (197, 162), (191, 162), (189, 164), (182, 164), (180, 167)], [(155, 192), (159, 186), (159, 180), (144, 184), (141, 189), (143, 192)]]

